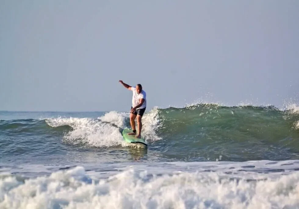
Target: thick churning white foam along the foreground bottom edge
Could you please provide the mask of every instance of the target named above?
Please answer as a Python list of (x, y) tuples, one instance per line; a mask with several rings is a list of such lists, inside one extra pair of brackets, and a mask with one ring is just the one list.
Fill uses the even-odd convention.
[[(23, 182), (0, 178), (0, 208), (298, 208), (299, 173), (231, 179), (223, 172), (149, 175), (129, 168), (92, 180), (83, 167)], [(250, 176), (251, 178), (251, 176)]]

